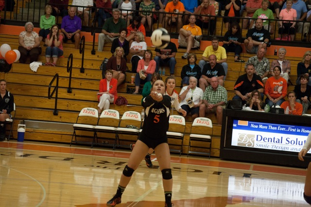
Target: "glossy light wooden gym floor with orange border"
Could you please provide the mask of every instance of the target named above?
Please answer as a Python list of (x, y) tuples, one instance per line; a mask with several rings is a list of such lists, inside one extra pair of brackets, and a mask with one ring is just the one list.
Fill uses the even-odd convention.
[[(105, 207), (130, 151), (0, 143), (0, 207)], [(162, 175), (142, 161), (116, 207), (164, 207)], [(297, 159), (298, 161), (298, 159)], [(308, 207), (305, 169), (172, 155), (175, 207)]]

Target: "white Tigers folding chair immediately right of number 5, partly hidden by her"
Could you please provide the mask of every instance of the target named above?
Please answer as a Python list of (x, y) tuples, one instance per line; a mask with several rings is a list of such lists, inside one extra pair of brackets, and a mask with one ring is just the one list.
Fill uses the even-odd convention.
[(180, 146), (180, 149), (171, 149), (171, 152), (179, 152), (179, 156), (183, 152), (184, 134), (186, 131), (186, 120), (183, 116), (170, 115), (170, 127), (169, 131), (166, 132), (168, 139), (179, 140), (178, 143), (169, 143), (172, 146)]

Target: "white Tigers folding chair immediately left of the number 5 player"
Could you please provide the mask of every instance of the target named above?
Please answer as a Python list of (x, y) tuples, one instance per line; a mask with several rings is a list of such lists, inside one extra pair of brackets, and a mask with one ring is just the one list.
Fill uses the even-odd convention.
[[(128, 128), (127, 125), (133, 125), (136, 126), (136, 128)], [(131, 135), (135, 136), (136, 140), (138, 139), (139, 135), (139, 127), (141, 126), (141, 118), (140, 113), (137, 111), (125, 111), (120, 119), (119, 127), (117, 127), (117, 136), (114, 144), (114, 148), (116, 149), (117, 141), (120, 146), (120, 135)], [(136, 142), (135, 140), (135, 142)], [(121, 141), (132, 141), (130, 139), (123, 139)]]

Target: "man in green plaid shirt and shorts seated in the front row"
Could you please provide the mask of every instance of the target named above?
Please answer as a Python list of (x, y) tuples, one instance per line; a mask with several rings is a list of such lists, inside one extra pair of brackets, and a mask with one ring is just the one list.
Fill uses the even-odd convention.
[(203, 104), (200, 105), (199, 116), (205, 117), (205, 113), (215, 113), (217, 124), (223, 121), (223, 110), (227, 102), (228, 93), (225, 88), (219, 85), (219, 80), (212, 77), (210, 86), (207, 86), (203, 95)]

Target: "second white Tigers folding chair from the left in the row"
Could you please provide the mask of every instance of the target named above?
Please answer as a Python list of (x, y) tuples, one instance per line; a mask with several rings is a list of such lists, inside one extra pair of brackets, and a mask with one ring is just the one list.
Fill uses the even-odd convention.
[[(117, 136), (117, 127), (119, 126), (120, 122), (120, 114), (117, 110), (107, 109), (104, 110), (101, 116), (98, 119), (97, 126), (95, 126), (95, 140), (98, 144), (98, 138), (100, 139), (111, 139), (108, 137), (99, 137), (98, 133), (105, 133), (105, 134), (113, 134), (113, 141), (115, 142)], [(105, 143), (105, 145), (110, 145), (109, 143)], [(114, 144), (111, 144), (114, 146)]]

